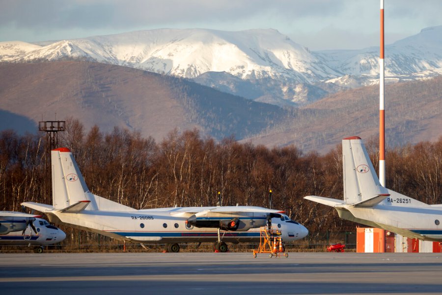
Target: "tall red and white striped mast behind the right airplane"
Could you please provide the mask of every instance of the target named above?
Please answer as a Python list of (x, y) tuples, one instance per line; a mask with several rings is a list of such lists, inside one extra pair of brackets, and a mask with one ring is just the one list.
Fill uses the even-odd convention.
[(381, 0), (381, 47), (379, 59), (379, 181), (385, 187), (385, 86), (384, 64), (384, 0)]

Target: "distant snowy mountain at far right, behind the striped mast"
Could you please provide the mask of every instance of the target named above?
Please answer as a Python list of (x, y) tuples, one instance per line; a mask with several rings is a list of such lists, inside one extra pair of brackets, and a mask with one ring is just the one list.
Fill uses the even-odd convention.
[[(379, 47), (328, 50), (316, 54), (336, 71), (353, 77), (353, 80), (359, 80), (356, 85), (368, 85), (379, 80)], [(390, 81), (416, 80), (440, 75), (442, 26), (422, 29), (414, 36), (386, 45), (385, 67), (386, 79)], [(331, 82), (336, 83), (336, 80)]]

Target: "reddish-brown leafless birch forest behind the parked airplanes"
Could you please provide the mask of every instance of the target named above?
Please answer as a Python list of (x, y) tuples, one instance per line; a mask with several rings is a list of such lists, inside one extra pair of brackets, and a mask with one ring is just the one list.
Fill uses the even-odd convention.
[[(231, 138), (216, 142), (196, 131), (171, 132), (161, 142), (137, 132), (98, 127), (84, 130), (74, 118), (59, 133), (70, 148), (89, 189), (136, 209), (173, 206), (269, 206), (285, 210), (310, 232), (354, 229), (334, 210), (303, 199), (342, 198), (341, 147), (302, 153), (295, 146), (266, 148)], [(366, 142), (377, 166), (377, 142)], [(46, 174), (45, 134), (0, 133), (0, 210), (21, 210), (25, 201), (51, 204)], [(420, 201), (442, 203), (442, 138), (387, 150), (387, 187)]]

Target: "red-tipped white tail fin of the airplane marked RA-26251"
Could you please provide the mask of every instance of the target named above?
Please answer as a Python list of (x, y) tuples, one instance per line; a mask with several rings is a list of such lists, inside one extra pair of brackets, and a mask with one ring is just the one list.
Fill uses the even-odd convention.
[(389, 195), (388, 190), (379, 182), (367, 150), (359, 137), (342, 140), (342, 161), (346, 204), (374, 206)]

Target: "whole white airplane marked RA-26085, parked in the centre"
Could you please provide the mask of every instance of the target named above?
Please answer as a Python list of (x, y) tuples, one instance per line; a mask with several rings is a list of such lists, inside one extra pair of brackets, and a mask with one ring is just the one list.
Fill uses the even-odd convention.
[[(263, 207), (171, 207), (137, 210), (92, 194), (68, 148), (51, 152), (53, 205), (22, 205), (48, 215), (51, 222), (140, 243), (165, 243), (179, 252), (182, 242), (259, 242), (259, 228), (271, 224), (289, 242), (308, 234), (282, 211)], [(270, 223), (269, 223), (270, 221)]]

